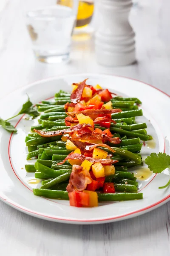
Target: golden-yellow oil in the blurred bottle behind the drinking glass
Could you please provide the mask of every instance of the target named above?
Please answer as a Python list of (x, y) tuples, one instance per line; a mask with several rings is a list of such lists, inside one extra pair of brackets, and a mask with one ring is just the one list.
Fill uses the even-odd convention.
[[(72, 7), (72, 0), (57, 0), (57, 4)], [(79, 1), (78, 13), (77, 13), (77, 28), (82, 28), (87, 26), (92, 19), (94, 12), (94, 2), (93, 1)]]

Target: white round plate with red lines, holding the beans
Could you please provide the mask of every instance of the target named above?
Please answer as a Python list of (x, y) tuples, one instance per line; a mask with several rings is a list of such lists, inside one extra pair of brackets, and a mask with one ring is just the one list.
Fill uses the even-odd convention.
[[(148, 134), (153, 135), (156, 142), (155, 148), (149, 148), (150, 144), (146, 143), (145, 147), (142, 147), (142, 156), (145, 158), (151, 152), (159, 151), (170, 154), (170, 98), (156, 88), (133, 79), (99, 74), (74, 74), (40, 80), (1, 100), (0, 116), (5, 119), (16, 114), (26, 102), (26, 93), (32, 102), (40, 102), (54, 96), (59, 89), (71, 91), (73, 82), (85, 78), (89, 78), (88, 84), (100, 84), (103, 88), (108, 88), (122, 96), (138, 97), (143, 103), (144, 116), (138, 117), (137, 120), (147, 122)], [(170, 187), (158, 189), (170, 179), (167, 170), (159, 175), (153, 174), (145, 180), (139, 180), (139, 191), (143, 192), (143, 200), (105, 203), (94, 208), (76, 208), (70, 207), (68, 201), (34, 196), (32, 188), (38, 187), (39, 184), (28, 184), (28, 180), (34, 178), (34, 174), (26, 173), (24, 169), (25, 163), (31, 163), (26, 161), (27, 151), (24, 141), (31, 125), (37, 120), (27, 121), (17, 117), (11, 122), (17, 126), (17, 134), (9, 134), (0, 128), (0, 198), (22, 212), (50, 221), (97, 224), (141, 215), (170, 199)]]

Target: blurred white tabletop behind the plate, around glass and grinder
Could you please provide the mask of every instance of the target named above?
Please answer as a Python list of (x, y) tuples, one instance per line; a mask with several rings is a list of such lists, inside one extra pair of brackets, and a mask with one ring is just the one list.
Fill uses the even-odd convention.
[[(64, 0), (58, 0), (63, 4)], [(136, 64), (103, 67), (94, 57), (94, 32), (97, 28), (97, 0), (86, 12), (90, 37), (74, 40), (68, 64), (45, 64), (37, 61), (26, 28), (25, 13), (40, 6), (55, 5), (57, 0), (0, 0), (0, 76), (5, 95), (13, 88), (50, 76), (66, 73), (108, 73), (128, 76), (156, 84), (168, 92), (170, 83), (169, 0), (134, 0), (130, 23), (136, 33)], [(83, 1), (82, 1), (83, 2)], [(93, 13), (94, 7), (94, 13)], [(92, 16), (93, 13), (93, 16)], [(77, 21), (77, 26), (83, 25)], [(91, 32), (92, 31), (92, 32)], [(74, 33), (75, 36), (75, 33)], [(3, 95), (0, 95), (2, 97)]]

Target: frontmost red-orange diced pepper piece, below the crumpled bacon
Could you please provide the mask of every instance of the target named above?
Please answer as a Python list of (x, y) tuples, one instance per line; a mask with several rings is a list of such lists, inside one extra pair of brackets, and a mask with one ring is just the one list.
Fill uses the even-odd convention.
[(90, 198), (84, 192), (76, 191), (68, 193), (70, 205), (75, 207), (89, 206)]

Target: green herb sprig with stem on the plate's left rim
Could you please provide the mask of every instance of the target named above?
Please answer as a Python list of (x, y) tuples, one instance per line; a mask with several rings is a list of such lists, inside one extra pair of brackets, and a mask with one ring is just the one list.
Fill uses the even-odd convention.
[(11, 125), (11, 123), (8, 122), (8, 120), (13, 119), (14, 117), (19, 116), (21, 114), (28, 114), (29, 116), (32, 116), (33, 118), (39, 116), (38, 111), (33, 107), (33, 104), (30, 101), (29, 97), (28, 97), (27, 102), (23, 104), (22, 109), (20, 110), (19, 113), (17, 113), (17, 115), (12, 116), (12, 117), (10, 117), (10, 118), (8, 118), (6, 120), (3, 120), (2, 118), (0, 118), (0, 125), (6, 131), (17, 132), (17, 129), (13, 125)]

